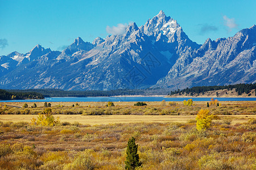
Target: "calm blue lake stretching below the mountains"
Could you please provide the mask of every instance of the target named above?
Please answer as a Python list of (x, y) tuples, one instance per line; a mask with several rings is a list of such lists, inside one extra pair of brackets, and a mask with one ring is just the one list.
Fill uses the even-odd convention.
[[(55, 101), (210, 101), (212, 97), (49, 97), (42, 100), (2, 100), (0, 102), (55, 102)], [(256, 97), (216, 97), (218, 101), (256, 101)]]

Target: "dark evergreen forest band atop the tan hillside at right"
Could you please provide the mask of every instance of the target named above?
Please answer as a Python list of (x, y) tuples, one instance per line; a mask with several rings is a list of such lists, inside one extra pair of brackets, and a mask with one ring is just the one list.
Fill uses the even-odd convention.
[(254, 84), (233, 84), (228, 86), (196, 86), (192, 88), (184, 88), (183, 90), (175, 90), (171, 91), (170, 95), (175, 94), (200, 94), (208, 91), (214, 91), (214, 90), (233, 90), (236, 89), (236, 92), (238, 95), (242, 95), (243, 93), (249, 94), (249, 92), (253, 89), (256, 89), (256, 83)]

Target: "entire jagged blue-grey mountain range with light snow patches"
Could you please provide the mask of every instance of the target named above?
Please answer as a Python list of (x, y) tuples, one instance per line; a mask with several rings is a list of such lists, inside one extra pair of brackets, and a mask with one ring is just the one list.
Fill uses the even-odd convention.
[(115, 90), (186, 88), (256, 82), (256, 25), (233, 37), (188, 38), (163, 11), (120, 35), (80, 37), (62, 52), (36, 45), (26, 54), (0, 56), (0, 88)]

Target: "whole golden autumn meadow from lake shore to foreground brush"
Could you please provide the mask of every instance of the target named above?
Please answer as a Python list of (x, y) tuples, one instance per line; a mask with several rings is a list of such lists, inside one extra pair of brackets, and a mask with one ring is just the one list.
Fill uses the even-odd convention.
[[(73, 104), (52, 103), (53, 116), (60, 117), (55, 126), (30, 123), (46, 109), (42, 103), (37, 108), (3, 104), (0, 169), (125, 169), (131, 137), (142, 161), (137, 169), (256, 169), (255, 101), (209, 108), (206, 102), (191, 107), (179, 102)], [(200, 109), (215, 115), (204, 131), (196, 129)]]

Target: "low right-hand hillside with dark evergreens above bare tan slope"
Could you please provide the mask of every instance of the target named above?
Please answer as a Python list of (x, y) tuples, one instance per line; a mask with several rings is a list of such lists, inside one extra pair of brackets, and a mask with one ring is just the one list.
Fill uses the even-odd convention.
[(197, 86), (171, 91), (169, 97), (255, 97), (256, 83), (229, 86)]

